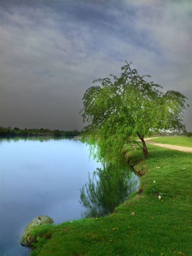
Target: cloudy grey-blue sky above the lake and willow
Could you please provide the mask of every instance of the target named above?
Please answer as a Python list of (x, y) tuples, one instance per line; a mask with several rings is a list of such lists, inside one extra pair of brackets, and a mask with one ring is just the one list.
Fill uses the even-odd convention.
[[(188, 0), (1, 0), (0, 125), (82, 129), (92, 81), (125, 60), (192, 101)], [(191, 107), (183, 123), (192, 130)]]

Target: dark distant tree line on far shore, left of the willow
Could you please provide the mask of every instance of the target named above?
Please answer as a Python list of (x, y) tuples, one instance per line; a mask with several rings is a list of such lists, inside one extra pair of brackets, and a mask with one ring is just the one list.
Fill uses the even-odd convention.
[(12, 136), (66, 136), (66, 137), (72, 137), (77, 136), (81, 132), (78, 130), (70, 130), (70, 131), (64, 131), (64, 130), (50, 130), (50, 129), (19, 129), (18, 127), (14, 127), (13, 129), (11, 127), (0, 127), (0, 137), (12, 137)]

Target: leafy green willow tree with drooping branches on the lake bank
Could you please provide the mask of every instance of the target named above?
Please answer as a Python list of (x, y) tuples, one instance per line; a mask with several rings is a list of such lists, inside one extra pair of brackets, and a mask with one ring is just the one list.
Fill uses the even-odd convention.
[(121, 68), (120, 77), (94, 80), (97, 85), (83, 96), (81, 113), (83, 122), (89, 123), (85, 129), (91, 134), (91, 153), (109, 162), (117, 161), (125, 143), (133, 143), (137, 136), (148, 156), (144, 138), (149, 132), (185, 128), (182, 117), (187, 98), (173, 90), (160, 91), (162, 86), (146, 81), (150, 76), (139, 75), (130, 64)]

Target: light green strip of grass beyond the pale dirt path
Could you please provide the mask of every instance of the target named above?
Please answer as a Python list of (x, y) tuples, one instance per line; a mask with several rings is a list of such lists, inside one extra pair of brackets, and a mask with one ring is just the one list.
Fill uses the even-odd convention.
[(183, 147), (192, 147), (192, 137), (187, 136), (166, 136), (159, 137), (157, 139), (151, 139), (150, 141)]

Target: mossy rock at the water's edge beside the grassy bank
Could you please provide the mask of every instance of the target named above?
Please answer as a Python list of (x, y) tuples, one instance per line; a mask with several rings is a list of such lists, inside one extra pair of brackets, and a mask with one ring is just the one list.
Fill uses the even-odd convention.
[(32, 243), (36, 242), (36, 237), (30, 235), (30, 231), (39, 225), (43, 224), (52, 224), (53, 219), (47, 215), (38, 215), (36, 216), (27, 226), (23, 233), (23, 236), (20, 239), (20, 243), (23, 246), (32, 247)]

